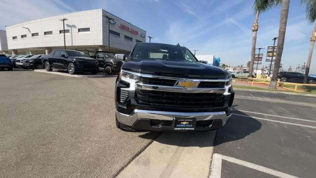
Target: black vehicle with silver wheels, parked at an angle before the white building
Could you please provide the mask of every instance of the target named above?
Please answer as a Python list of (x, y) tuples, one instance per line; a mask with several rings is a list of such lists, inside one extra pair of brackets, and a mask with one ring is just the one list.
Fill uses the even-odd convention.
[(99, 72), (99, 63), (96, 59), (75, 50), (53, 50), (49, 55), (43, 55), (41, 61), (46, 71), (67, 70), (69, 74), (78, 72), (96, 74)]

